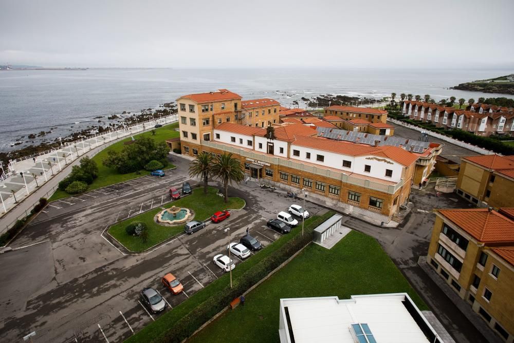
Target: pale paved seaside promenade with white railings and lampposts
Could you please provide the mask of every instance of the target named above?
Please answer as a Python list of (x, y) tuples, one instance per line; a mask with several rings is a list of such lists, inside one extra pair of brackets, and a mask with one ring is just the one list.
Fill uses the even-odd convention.
[(93, 157), (112, 144), (133, 134), (150, 131), (155, 124), (177, 121), (177, 115), (123, 126), (101, 134), (84, 137), (61, 147), (13, 160), (0, 174), (0, 234), (27, 216), (41, 197), (50, 197), (80, 158)]

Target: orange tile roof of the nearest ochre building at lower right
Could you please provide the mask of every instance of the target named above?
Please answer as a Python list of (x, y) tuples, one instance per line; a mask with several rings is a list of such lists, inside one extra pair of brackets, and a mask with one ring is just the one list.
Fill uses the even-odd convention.
[(479, 242), (514, 243), (514, 221), (487, 208), (437, 210)]

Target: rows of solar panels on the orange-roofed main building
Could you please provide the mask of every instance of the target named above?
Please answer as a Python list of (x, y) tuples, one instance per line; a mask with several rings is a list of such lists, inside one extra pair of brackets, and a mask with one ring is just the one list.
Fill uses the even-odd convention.
[(345, 140), (348, 142), (358, 142), (362, 144), (375, 145), (375, 141), (378, 140), (378, 146), (393, 146), (400, 147), (402, 149), (411, 150), (412, 152), (422, 153), (429, 146), (430, 142), (423, 142), (415, 139), (407, 139), (396, 136), (386, 136), (386, 135), (374, 135), (371, 133), (365, 132), (356, 132), (356, 131), (347, 131), (347, 130), (339, 130), (339, 129), (331, 129), (331, 128), (317, 128), (318, 136), (336, 139), (336, 140)]

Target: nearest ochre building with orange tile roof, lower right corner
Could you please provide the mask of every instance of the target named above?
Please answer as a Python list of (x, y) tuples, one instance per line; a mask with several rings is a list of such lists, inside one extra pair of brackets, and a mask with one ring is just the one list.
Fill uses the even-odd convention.
[(438, 209), (427, 262), (503, 340), (514, 339), (512, 208)]

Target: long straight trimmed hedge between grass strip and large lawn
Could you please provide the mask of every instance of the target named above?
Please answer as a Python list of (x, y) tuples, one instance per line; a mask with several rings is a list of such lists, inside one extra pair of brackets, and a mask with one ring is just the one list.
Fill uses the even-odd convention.
[(250, 287), (264, 279), (274, 269), (310, 243), (312, 241), (313, 230), (334, 215), (334, 213), (333, 211), (329, 211), (305, 226), (305, 234), (303, 236), (297, 234), (297, 236), (290, 239), (280, 249), (274, 251), (272, 255), (265, 257), (248, 269), (241, 277), (235, 279), (232, 288), (227, 285), (221, 291), (214, 293), (206, 301), (196, 306), (195, 309), (177, 321), (167, 331), (162, 332), (154, 341), (178, 343), (190, 337), (214, 315), (225, 310), (234, 298), (241, 296), (249, 290)]

